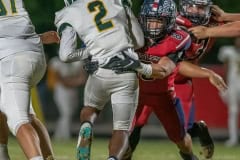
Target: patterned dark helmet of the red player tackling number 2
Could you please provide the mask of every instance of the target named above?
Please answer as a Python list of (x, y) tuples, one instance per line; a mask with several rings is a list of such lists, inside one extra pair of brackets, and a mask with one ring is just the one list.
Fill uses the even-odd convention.
[(144, 1), (139, 16), (145, 38), (155, 42), (172, 31), (175, 19), (176, 6), (172, 0)]

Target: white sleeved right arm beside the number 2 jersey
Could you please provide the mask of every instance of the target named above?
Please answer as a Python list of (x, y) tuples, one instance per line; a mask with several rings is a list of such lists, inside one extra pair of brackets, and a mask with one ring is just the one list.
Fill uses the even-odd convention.
[(133, 14), (130, 7), (126, 7), (125, 10), (126, 10), (127, 16), (130, 21), (129, 29), (131, 32), (134, 49), (142, 48), (144, 46), (144, 35), (143, 35), (143, 31), (140, 27), (140, 24), (138, 23), (138, 20), (135, 17), (135, 15)]

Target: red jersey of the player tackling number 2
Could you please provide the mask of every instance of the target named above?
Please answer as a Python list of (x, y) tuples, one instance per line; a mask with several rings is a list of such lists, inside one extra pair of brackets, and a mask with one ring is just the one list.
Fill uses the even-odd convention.
[[(170, 35), (160, 41), (158, 44), (150, 47), (145, 47), (139, 50), (139, 57), (145, 63), (157, 63), (159, 57), (169, 54), (179, 54), (187, 50), (191, 44), (191, 39), (188, 33), (183, 30), (175, 29)], [(168, 77), (159, 79), (147, 79), (140, 76), (140, 94), (159, 94), (162, 92), (174, 92), (174, 79), (178, 72), (178, 67)]]

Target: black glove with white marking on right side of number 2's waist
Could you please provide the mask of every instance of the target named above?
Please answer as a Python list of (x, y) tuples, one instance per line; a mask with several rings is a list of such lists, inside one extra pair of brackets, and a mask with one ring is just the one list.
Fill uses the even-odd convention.
[[(141, 67), (141, 62), (138, 59), (134, 59), (123, 52), (124, 59), (118, 59), (111, 63), (112, 70), (117, 74), (136, 71)], [(113, 58), (114, 59), (114, 58)]]

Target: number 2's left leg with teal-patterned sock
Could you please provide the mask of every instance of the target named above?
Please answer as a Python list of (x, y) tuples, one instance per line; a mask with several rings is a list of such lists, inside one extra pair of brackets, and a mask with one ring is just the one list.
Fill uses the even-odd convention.
[(109, 95), (102, 90), (101, 81), (89, 75), (84, 91), (84, 107), (80, 113), (80, 130), (77, 142), (77, 159), (89, 160), (93, 136), (93, 124), (103, 109)]

